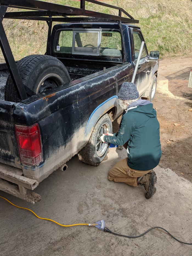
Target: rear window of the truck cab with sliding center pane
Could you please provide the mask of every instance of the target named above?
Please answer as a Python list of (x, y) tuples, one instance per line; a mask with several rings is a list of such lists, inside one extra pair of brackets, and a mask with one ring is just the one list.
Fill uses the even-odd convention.
[(54, 43), (54, 52), (57, 54), (121, 58), (121, 35), (118, 31), (104, 31), (101, 29), (58, 31)]

